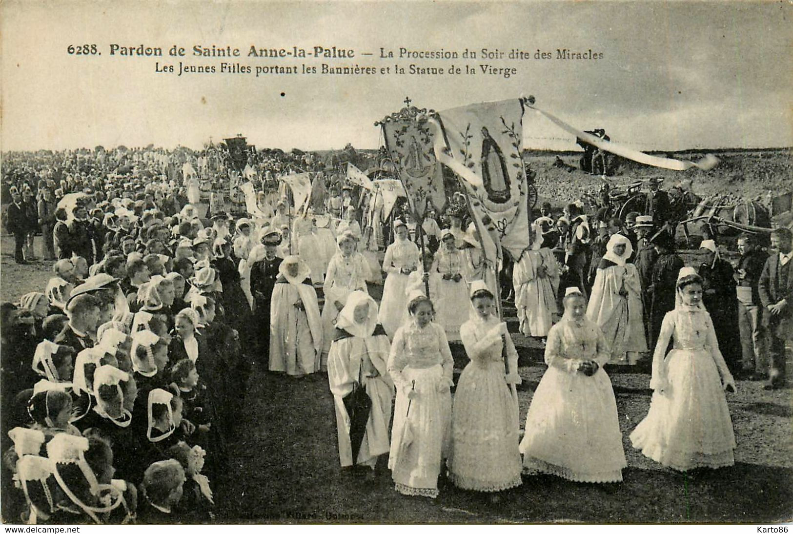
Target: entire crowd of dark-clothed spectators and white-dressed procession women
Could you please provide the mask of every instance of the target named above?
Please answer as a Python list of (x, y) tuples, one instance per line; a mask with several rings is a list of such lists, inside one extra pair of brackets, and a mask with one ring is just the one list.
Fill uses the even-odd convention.
[[(621, 481), (603, 369), (653, 348), (652, 404), (630, 439), (681, 471), (734, 463), (734, 374), (783, 384), (791, 232), (772, 232), (770, 255), (741, 236), (737, 269), (703, 240), (702, 264), (684, 267), (657, 184), (626, 221), (542, 206), (531, 246), (496, 273), (458, 195), (419, 224), (329, 177), (310, 207), (259, 179), (255, 209), (232, 217), (203, 154), (56, 156), (4, 170), (17, 261), (38, 231), (56, 260), (43, 291), (2, 304), (10, 521), (210, 521), (251, 372), (327, 375), (340, 465), (376, 476), (388, 455), (395, 489), (430, 498), (439, 477), (494, 495), (524, 472)], [(500, 295), (546, 348), (522, 439)], [(470, 359), (454, 401), (450, 340)], [(733, 346), (742, 355), (722, 357)]]

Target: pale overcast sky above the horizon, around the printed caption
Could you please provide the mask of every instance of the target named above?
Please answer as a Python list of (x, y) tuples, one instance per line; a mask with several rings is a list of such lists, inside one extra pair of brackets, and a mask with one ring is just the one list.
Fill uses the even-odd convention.
[[(198, 148), (243, 133), (259, 147), (376, 148), (374, 121), (410, 96), (445, 109), (534, 94), (581, 129), (642, 150), (793, 145), (793, 23), (787, 2), (2, 2), (2, 150), (154, 143)], [(102, 56), (70, 56), (69, 44)], [(603, 60), (399, 60), (482, 63), (517, 75), (202, 75), (155, 72), (180, 58), (109, 55), (110, 44), (240, 48), (251, 67), (393, 65), (380, 47), (557, 48)], [(353, 48), (352, 60), (266, 60), (262, 48)], [(361, 56), (373, 52), (376, 56)], [(182, 63), (222, 59), (185, 56)], [(178, 66), (176, 67), (178, 69)], [(281, 94), (284, 96), (281, 96)], [(546, 119), (524, 118), (527, 148), (576, 148)]]

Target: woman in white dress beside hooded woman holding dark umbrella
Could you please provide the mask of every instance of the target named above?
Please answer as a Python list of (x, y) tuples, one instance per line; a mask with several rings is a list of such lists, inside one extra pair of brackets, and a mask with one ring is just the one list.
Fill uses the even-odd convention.
[(404, 495), (438, 496), (438, 477), (451, 434), (454, 360), (435, 310), (418, 291), (408, 298), (411, 321), (394, 336), (388, 371), (397, 386), (389, 469)]

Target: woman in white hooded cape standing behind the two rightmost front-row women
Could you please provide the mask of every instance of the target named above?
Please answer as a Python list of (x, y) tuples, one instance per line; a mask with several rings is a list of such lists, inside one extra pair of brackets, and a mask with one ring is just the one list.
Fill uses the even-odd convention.
[(633, 247), (626, 236), (615, 234), (600, 259), (587, 318), (603, 330), (611, 348), (609, 363), (633, 365), (647, 352), (642, 305), (642, 282), (633, 263), (626, 263)]

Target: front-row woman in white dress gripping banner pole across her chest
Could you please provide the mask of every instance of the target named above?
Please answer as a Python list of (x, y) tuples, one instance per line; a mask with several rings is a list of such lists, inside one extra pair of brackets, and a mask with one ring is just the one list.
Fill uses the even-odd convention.
[(521, 382), (518, 353), (507, 325), (492, 314), (494, 298), (485, 282), (473, 282), (471, 291), (476, 317), (460, 329), (471, 361), (454, 394), (452, 448), (446, 465), (454, 486), (497, 492), (521, 484), (518, 405), (509, 389), (509, 384)]

